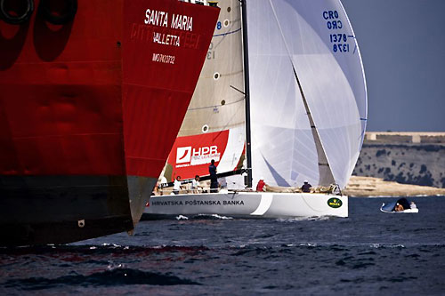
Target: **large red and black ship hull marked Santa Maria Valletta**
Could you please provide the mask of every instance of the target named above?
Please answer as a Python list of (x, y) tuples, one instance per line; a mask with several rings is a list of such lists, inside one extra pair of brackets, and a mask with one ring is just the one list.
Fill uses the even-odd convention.
[[(63, 2), (35, 1), (20, 24), (0, 20), (3, 245), (134, 228), (219, 12), (176, 0), (65, 1), (77, 10), (52, 3)], [(54, 24), (52, 9), (72, 18)]]

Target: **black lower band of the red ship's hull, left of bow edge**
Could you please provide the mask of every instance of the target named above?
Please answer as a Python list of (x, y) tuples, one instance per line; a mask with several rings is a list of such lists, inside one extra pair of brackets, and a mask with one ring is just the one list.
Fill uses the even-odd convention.
[(1, 176), (0, 245), (65, 244), (134, 228), (126, 176)]

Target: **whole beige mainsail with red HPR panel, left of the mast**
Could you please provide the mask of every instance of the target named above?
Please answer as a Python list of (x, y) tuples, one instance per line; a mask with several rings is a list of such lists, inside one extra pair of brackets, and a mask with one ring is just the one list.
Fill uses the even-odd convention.
[(242, 166), (245, 147), (244, 73), (240, 3), (220, 1), (220, 16), (187, 114), (168, 157), (165, 176), (174, 180)]

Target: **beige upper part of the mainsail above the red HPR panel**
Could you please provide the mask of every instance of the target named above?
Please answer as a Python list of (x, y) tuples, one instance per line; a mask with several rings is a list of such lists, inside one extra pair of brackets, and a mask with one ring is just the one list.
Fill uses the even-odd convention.
[(178, 136), (245, 124), (241, 12), (238, 0), (218, 3), (220, 16)]

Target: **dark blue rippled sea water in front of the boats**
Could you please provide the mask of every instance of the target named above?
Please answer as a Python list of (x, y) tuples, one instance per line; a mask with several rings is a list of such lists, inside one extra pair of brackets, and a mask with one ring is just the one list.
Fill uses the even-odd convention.
[(445, 294), (445, 197), (350, 198), (350, 216), (142, 221), (134, 236), (0, 249), (0, 293)]

